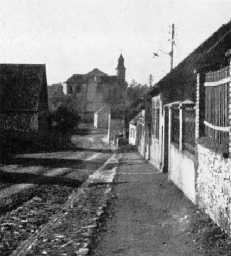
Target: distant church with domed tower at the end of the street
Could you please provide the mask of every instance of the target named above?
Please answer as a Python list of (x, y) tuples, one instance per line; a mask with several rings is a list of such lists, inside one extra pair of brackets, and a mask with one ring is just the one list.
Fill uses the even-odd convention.
[(77, 104), (82, 121), (93, 122), (94, 113), (104, 106), (117, 109), (125, 102), (126, 68), (122, 54), (118, 59), (115, 76), (93, 69), (87, 74), (73, 74), (66, 82), (67, 96)]

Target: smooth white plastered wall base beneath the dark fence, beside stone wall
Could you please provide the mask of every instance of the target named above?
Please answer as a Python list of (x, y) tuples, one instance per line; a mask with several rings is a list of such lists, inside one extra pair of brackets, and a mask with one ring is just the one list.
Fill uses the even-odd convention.
[(195, 168), (193, 155), (184, 151), (180, 154), (179, 149), (172, 144), (170, 147), (170, 158), (169, 179), (195, 204)]

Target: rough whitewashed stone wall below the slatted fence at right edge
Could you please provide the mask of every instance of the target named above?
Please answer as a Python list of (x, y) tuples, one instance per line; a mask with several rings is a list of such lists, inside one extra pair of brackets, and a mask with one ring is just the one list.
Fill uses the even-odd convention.
[(198, 144), (197, 203), (230, 233), (231, 160)]

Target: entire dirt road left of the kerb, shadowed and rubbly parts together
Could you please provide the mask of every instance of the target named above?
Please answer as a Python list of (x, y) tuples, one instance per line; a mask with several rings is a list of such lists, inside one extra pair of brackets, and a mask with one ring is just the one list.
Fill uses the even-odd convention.
[(38, 232), (112, 156), (101, 137), (74, 135), (76, 150), (20, 154), (0, 165), (0, 255)]

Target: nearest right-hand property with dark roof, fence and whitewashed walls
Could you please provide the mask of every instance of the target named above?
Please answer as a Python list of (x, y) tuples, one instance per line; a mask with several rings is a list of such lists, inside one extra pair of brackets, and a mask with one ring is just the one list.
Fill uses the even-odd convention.
[(145, 157), (229, 234), (230, 60), (228, 22), (155, 84), (145, 109)]

